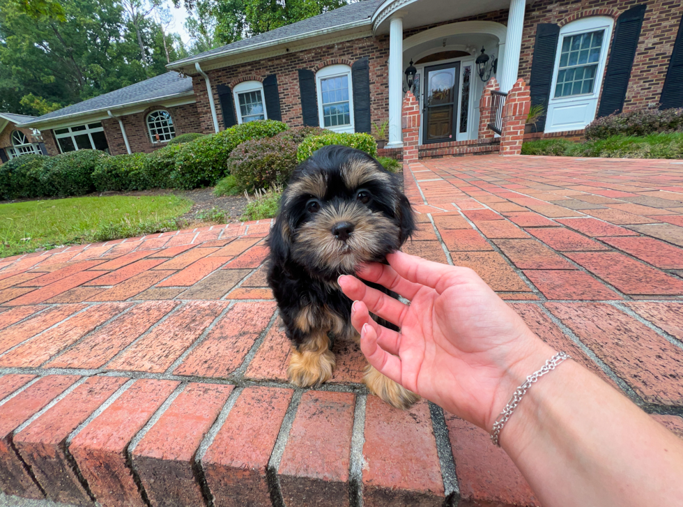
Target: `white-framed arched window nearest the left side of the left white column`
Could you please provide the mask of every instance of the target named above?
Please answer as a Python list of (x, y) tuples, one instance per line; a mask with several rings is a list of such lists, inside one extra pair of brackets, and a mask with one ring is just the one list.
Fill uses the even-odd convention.
[(320, 126), (354, 133), (351, 67), (330, 65), (316, 73)]

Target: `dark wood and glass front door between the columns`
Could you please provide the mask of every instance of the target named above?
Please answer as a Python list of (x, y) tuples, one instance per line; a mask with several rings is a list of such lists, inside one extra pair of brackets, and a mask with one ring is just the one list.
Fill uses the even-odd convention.
[(423, 144), (456, 140), (460, 62), (424, 68)]

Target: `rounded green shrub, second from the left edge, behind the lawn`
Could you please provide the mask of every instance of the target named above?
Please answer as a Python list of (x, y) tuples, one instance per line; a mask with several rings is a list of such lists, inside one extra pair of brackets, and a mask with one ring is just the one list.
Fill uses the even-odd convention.
[(45, 195), (67, 197), (95, 190), (92, 174), (98, 163), (109, 155), (99, 150), (79, 150), (49, 157), (38, 172)]

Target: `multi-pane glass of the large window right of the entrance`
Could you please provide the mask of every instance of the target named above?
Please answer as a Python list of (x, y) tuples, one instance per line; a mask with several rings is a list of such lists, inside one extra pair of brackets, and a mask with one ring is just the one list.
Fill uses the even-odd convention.
[(592, 93), (604, 30), (562, 38), (555, 98)]

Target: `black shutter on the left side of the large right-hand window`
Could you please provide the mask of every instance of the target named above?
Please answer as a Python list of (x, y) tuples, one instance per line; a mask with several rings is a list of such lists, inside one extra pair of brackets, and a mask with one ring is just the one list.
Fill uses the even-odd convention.
[(535, 132), (543, 132), (546, 128), (546, 113), (548, 112), (548, 100), (553, 86), (558, 38), (560, 38), (560, 27), (558, 25), (552, 23), (537, 24), (529, 88), (531, 105), (542, 105), (544, 114), (536, 122)]

